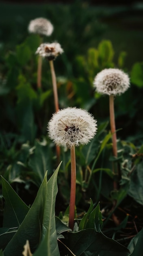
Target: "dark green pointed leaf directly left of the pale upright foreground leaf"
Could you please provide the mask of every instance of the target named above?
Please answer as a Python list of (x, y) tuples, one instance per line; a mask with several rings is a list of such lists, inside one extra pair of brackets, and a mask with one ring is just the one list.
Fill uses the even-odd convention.
[(20, 256), (26, 240), (29, 240), (31, 251), (35, 251), (41, 240), (41, 229), (45, 200), (47, 195), (47, 173), (39, 188), (35, 201), (22, 224), (4, 249), (4, 256)]

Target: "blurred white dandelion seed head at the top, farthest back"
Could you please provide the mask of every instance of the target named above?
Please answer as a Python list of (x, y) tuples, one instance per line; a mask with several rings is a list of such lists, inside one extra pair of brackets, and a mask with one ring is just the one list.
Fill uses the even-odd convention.
[(52, 23), (45, 18), (37, 18), (35, 20), (31, 20), (28, 25), (28, 31), (30, 33), (50, 36), (52, 34), (54, 27)]

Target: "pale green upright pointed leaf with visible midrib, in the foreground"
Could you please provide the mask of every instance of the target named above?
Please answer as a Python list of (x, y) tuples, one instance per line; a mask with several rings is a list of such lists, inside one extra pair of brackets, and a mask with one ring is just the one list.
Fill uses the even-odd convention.
[(57, 175), (61, 164), (48, 180), (47, 197), (43, 214), (43, 228), (41, 243), (33, 256), (60, 256), (56, 235), (55, 201), (58, 192)]

